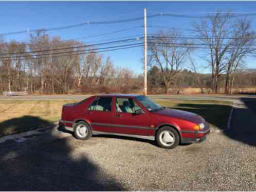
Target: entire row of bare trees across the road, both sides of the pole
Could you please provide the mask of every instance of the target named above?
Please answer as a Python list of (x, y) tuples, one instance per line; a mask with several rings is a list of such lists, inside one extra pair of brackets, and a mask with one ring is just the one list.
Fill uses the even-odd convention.
[[(159, 93), (156, 90), (161, 89), (168, 93), (173, 87), (196, 87), (202, 93), (206, 89), (211, 93), (223, 89), (231, 94), (234, 85), (255, 87), (255, 71), (243, 70), (246, 59), (255, 57), (255, 31), (248, 18), (232, 16), (232, 13), (218, 11), (207, 19), (197, 20), (192, 25), (192, 37), (183, 36), (178, 29), (149, 35), (149, 91)], [(61, 48), (68, 48), (63, 52), (66, 54), (59, 54)], [(0, 91), (143, 92), (142, 74), (115, 66), (111, 57), (90, 51), (94, 48), (97, 47), (84, 47), (80, 41), (50, 38), (43, 30), (30, 34), (28, 44), (15, 40), (5, 42), (2, 38)], [(85, 51), (86, 54), (81, 54)], [(210, 73), (200, 73), (201, 68)]]

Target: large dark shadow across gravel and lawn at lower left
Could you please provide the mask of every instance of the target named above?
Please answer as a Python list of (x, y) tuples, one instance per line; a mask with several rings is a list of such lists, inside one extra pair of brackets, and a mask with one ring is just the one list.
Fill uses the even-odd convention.
[[(33, 116), (0, 122), (0, 127), (9, 125), (19, 129), (19, 122), (37, 121), (50, 123)], [(50, 132), (49, 132), (50, 134)], [(49, 135), (38, 136), (15, 146), (0, 144), (0, 190), (41, 191), (116, 191), (125, 190), (112, 176), (86, 154), (74, 155), (74, 146), (81, 141)], [(39, 144), (45, 140), (44, 143)], [(71, 144), (72, 143), (72, 144)]]

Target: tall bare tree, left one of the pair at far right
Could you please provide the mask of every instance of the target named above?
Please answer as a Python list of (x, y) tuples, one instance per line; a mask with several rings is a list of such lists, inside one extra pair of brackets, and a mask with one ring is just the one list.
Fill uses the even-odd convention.
[(212, 90), (218, 92), (218, 80), (226, 70), (224, 55), (233, 44), (233, 39), (228, 38), (233, 34), (232, 14), (217, 12), (209, 15), (208, 19), (202, 19), (199, 23), (194, 23), (199, 42), (209, 48), (206, 61), (211, 67)]

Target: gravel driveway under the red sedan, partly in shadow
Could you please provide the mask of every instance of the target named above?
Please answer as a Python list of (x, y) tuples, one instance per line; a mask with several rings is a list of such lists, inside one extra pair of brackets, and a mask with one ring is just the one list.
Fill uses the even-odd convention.
[[(247, 99), (235, 109), (231, 130), (213, 129), (205, 142), (173, 150), (124, 137), (80, 141), (56, 128), (6, 141), (0, 144), (0, 190), (254, 191), (254, 103)], [(235, 126), (238, 121), (243, 126)], [(250, 139), (241, 131), (247, 126)]]

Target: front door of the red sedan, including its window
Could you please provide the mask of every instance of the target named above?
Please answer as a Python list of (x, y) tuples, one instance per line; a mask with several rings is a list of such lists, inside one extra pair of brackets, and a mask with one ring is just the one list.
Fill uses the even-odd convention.
[(133, 98), (116, 97), (113, 123), (115, 132), (126, 135), (149, 135), (149, 116), (147, 113), (135, 115), (142, 110)]

